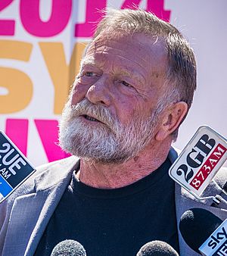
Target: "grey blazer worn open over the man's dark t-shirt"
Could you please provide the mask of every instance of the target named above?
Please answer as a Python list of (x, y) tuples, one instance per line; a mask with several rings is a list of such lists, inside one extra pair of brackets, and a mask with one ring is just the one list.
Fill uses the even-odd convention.
[[(173, 148), (169, 152), (170, 161), (177, 157)], [(36, 170), (20, 188), (0, 204), (0, 254), (3, 256), (33, 255), (48, 220), (53, 214), (64, 190), (70, 183), (73, 170), (79, 169), (79, 159), (65, 158), (45, 164)], [(211, 195), (222, 194), (220, 186), (225, 183), (226, 170), (219, 170), (216, 181), (206, 189)], [(225, 195), (222, 195), (223, 197)], [(227, 199), (227, 198), (226, 198)], [(188, 208), (206, 208), (222, 220), (227, 211), (210, 207), (211, 201), (201, 203), (185, 189), (176, 184), (176, 217), (180, 217)], [(182, 239), (179, 233), (180, 255), (198, 255)]]

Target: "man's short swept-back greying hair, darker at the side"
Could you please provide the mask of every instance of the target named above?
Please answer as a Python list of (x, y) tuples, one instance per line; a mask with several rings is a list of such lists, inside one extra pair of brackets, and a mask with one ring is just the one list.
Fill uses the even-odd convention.
[[(108, 9), (104, 18), (98, 23), (93, 39), (103, 32), (105, 34), (122, 32), (129, 33), (129, 35), (143, 33), (162, 40), (168, 60), (166, 70), (168, 89), (160, 99), (164, 101), (160, 105), (166, 107), (169, 103), (185, 101), (189, 110), (196, 89), (196, 62), (193, 49), (176, 27), (140, 9)], [(176, 139), (178, 129), (173, 132), (173, 139)]]

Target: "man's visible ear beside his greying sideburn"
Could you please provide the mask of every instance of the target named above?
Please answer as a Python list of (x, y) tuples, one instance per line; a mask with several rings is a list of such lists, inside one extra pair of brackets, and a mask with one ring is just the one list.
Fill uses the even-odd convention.
[(187, 111), (188, 105), (184, 101), (179, 101), (169, 106), (163, 113), (163, 120), (160, 123), (155, 139), (162, 141), (166, 139), (169, 134), (173, 133), (173, 131), (178, 128)]

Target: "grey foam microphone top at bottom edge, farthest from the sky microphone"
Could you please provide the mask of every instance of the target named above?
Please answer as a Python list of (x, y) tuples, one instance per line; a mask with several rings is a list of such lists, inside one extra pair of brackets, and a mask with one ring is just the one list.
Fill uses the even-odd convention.
[(51, 256), (86, 256), (86, 250), (79, 242), (67, 239), (55, 245)]

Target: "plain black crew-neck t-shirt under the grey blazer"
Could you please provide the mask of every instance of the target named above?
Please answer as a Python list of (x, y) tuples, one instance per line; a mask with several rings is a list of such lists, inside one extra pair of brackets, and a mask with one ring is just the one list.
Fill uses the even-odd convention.
[(49, 256), (65, 239), (80, 242), (88, 256), (132, 256), (154, 240), (179, 251), (170, 165), (166, 160), (150, 175), (120, 189), (86, 186), (73, 173), (35, 255)]

